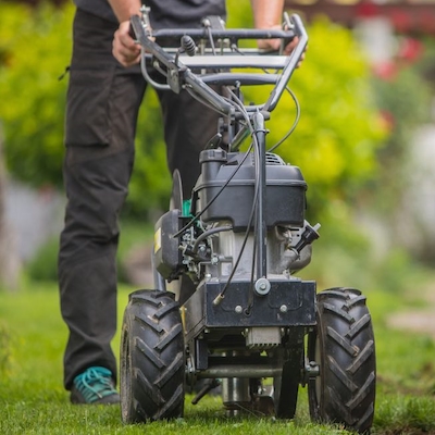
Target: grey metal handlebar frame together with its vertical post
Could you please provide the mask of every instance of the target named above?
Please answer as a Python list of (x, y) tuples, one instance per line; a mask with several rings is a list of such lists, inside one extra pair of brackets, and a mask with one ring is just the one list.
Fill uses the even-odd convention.
[[(265, 186), (266, 186), (266, 173), (265, 173), (265, 127), (264, 120), (269, 116), (268, 112), (272, 112), (284, 90), (287, 87), (291, 74), (296, 70), (308, 44), (308, 35), (303, 27), (302, 21), (296, 14), (291, 15), (291, 18), (285, 14), (285, 30), (259, 30), (259, 29), (165, 29), (151, 33), (149, 30), (149, 22), (147, 11), (145, 16), (139, 17), (138, 15), (132, 16), (130, 23), (134, 30), (134, 35), (138, 44), (142, 48), (142, 61), (146, 55), (151, 55), (159, 63), (159, 71), (165, 70), (167, 79), (167, 88), (178, 94), (183, 88), (187, 88), (190, 92), (194, 92), (204, 103), (210, 104), (219, 113), (228, 116), (229, 119), (247, 119), (249, 117), (248, 125), (245, 125), (243, 129), (238, 132), (233, 140), (239, 140), (239, 137), (244, 137), (244, 134), (251, 129), (252, 137), (257, 142), (258, 150), (258, 172), (256, 176), (257, 192), (256, 195), (257, 207), (256, 207), (256, 269), (257, 279), (264, 279), (266, 277), (266, 227), (264, 222), (264, 209), (265, 209)], [(228, 40), (231, 45), (236, 45), (240, 39), (281, 39), (283, 44), (287, 44), (295, 37), (298, 37), (298, 44), (293, 52), (285, 55), (270, 55), (260, 54), (257, 51), (256, 55), (248, 54), (244, 55), (238, 50), (232, 51), (225, 49), (221, 45), (221, 50), (213, 52), (214, 55), (199, 55), (198, 58), (189, 58), (182, 55), (181, 51), (177, 50), (175, 53), (170, 49), (164, 49), (153, 39), (172, 39), (176, 44), (179, 44), (181, 38), (188, 35), (194, 40), (210, 40), (212, 41), (224, 41)], [(209, 50), (210, 51), (210, 50)], [(148, 54), (147, 54), (148, 53)], [(199, 69), (222, 70), (217, 73), (196, 73)], [(240, 73), (233, 72), (231, 69), (274, 69), (275, 74), (269, 74), (263, 71), (262, 73)], [(142, 67), (144, 71), (144, 67)], [(278, 73), (279, 72), (279, 73)], [(144, 76), (147, 79), (145, 72)], [(150, 82), (153, 85), (152, 82)], [(274, 85), (272, 91), (269, 95), (268, 100), (259, 105), (245, 105), (241, 101), (238, 104), (234, 104), (233, 101), (228, 101), (226, 98), (217, 94), (211, 85), (233, 85), (239, 88), (243, 85), (253, 84), (271, 84)]]

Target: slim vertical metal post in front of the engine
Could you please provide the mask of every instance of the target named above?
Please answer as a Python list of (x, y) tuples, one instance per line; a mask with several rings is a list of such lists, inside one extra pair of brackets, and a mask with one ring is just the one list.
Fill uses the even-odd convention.
[(257, 202), (257, 279), (266, 277), (268, 275), (268, 263), (266, 263), (266, 226), (265, 226), (265, 188), (266, 188), (266, 176), (265, 176), (265, 127), (264, 127), (264, 116), (261, 112), (257, 112), (252, 116), (253, 121), (253, 134), (257, 137), (259, 153), (258, 162), (258, 176), (257, 181), (259, 186), (259, 195)]

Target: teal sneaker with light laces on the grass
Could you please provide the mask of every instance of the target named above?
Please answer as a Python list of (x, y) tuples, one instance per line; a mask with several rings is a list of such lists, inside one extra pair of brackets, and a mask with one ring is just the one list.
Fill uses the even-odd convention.
[(71, 389), (72, 403), (113, 405), (120, 402), (112, 372), (101, 366), (91, 366), (74, 377)]

